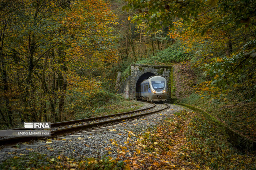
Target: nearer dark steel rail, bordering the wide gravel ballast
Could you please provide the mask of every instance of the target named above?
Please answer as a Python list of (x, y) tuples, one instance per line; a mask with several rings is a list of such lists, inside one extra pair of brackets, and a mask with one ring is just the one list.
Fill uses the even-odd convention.
[[(148, 112), (148, 113), (142, 113), (142, 114), (133, 115), (133, 116), (129, 116), (129, 117), (122, 117), (122, 118), (113, 119), (113, 120), (100, 121), (100, 122), (95, 122), (95, 123), (90, 123), (90, 124), (84, 124), (84, 125), (78, 125), (78, 126), (73, 126), (73, 127), (69, 127), (69, 128), (54, 130), (54, 131), (51, 131), (51, 136), (46, 137), (46, 138), (51, 139), (51, 138), (54, 138), (56, 136), (62, 136), (64, 134), (70, 134), (72, 132), (78, 132), (80, 130), (86, 130), (88, 128), (93, 128), (93, 127), (97, 127), (97, 126), (100, 126), (100, 125), (106, 125), (106, 124), (109, 124), (109, 123), (115, 123), (115, 122), (120, 122), (120, 121), (123, 121), (123, 120), (134, 119), (136, 117), (146, 116), (146, 115), (156, 113), (156, 112), (159, 112), (159, 111), (162, 111), (164, 109), (169, 108), (169, 105), (167, 105), (167, 104), (165, 104), (165, 105), (166, 105), (166, 107), (164, 107), (162, 109), (152, 111), (152, 112)], [(0, 146), (1, 145), (15, 146), (15, 144), (18, 143), (18, 142), (27, 142), (27, 141), (30, 141), (30, 140), (41, 140), (41, 139), (44, 139), (44, 138), (37, 137), (37, 136), (20, 136), (20, 137), (13, 137), (13, 138), (5, 138), (5, 139), (0, 139)]]

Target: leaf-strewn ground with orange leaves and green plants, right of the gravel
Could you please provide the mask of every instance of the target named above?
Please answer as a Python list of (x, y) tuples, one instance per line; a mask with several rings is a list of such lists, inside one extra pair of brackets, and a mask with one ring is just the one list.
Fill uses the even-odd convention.
[[(218, 126), (195, 112), (180, 111), (139, 136), (139, 169), (255, 169), (255, 153), (240, 152)], [(134, 164), (134, 162), (136, 164)]]

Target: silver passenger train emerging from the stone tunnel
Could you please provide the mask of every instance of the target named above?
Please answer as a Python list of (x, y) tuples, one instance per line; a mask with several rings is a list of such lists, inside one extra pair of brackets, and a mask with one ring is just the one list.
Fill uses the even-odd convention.
[(161, 76), (151, 76), (143, 80), (136, 92), (139, 100), (146, 101), (167, 101), (167, 83)]

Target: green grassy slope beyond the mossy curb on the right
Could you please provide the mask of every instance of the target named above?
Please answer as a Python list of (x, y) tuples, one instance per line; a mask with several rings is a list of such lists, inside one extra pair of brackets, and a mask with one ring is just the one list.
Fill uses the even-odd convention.
[(211, 98), (207, 96), (202, 98), (202, 96), (195, 93), (178, 102), (202, 108), (217, 117), (231, 129), (252, 140), (256, 140), (255, 102), (230, 101), (226, 103), (224, 101), (211, 100)]

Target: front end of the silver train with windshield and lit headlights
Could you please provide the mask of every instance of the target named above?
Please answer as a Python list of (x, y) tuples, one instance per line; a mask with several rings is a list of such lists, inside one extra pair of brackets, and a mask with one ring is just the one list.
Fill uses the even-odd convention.
[(166, 79), (161, 76), (150, 78), (150, 101), (167, 101)]

